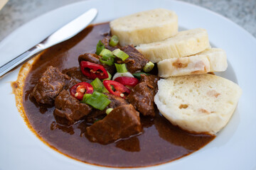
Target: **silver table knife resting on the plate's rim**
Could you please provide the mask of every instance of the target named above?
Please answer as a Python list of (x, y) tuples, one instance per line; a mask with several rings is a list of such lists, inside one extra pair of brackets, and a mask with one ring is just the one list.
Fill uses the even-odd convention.
[(81, 16), (78, 16), (78, 18), (75, 18), (70, 23), (67, 23), (62, 28), (56, 30), (53, 34), (48, 36), (48, 38), (40, 42), (38, 45), (31, 47), (31, 49), (23, 52), (21, 55), (18, 55), (18, 57), (15, 57), (9, 62), (6, 62), (6, 64), (0, 67), (0, 77), (29, 58), (37, 55), (39, 52), (46, 50), (48, 47), (56, 45), (77, 35), (94, 20), (95, 16), (97, 16), (97, 9), (91, 8)]

